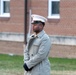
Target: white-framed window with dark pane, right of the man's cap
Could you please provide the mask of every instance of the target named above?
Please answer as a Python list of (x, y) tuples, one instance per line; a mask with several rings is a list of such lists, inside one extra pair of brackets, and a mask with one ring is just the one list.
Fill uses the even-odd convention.
[(48, 1), (48, 18), (59, 19), (60, 18), (60, 0)]

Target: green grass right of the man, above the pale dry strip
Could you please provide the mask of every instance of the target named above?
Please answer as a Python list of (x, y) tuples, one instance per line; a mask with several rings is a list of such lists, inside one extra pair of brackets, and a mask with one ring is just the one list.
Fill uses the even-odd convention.
[(71, 70), (76, 71), (76, 59), (68, 59), (68, 58), (49, 58), (51, 62), (52, 70)]

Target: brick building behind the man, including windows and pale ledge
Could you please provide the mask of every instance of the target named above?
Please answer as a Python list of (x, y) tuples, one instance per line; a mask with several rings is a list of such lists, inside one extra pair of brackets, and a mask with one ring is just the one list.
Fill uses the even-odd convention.
[[(28, 18), (33, 13), (48, 19), (45, 31), (52, 39), (51, 56), (76, 58), (76, 1), (28, 0), (28, 7)], [(24, 0), (0, 0), (0, 53), (22, 54), (23, 41)]]

